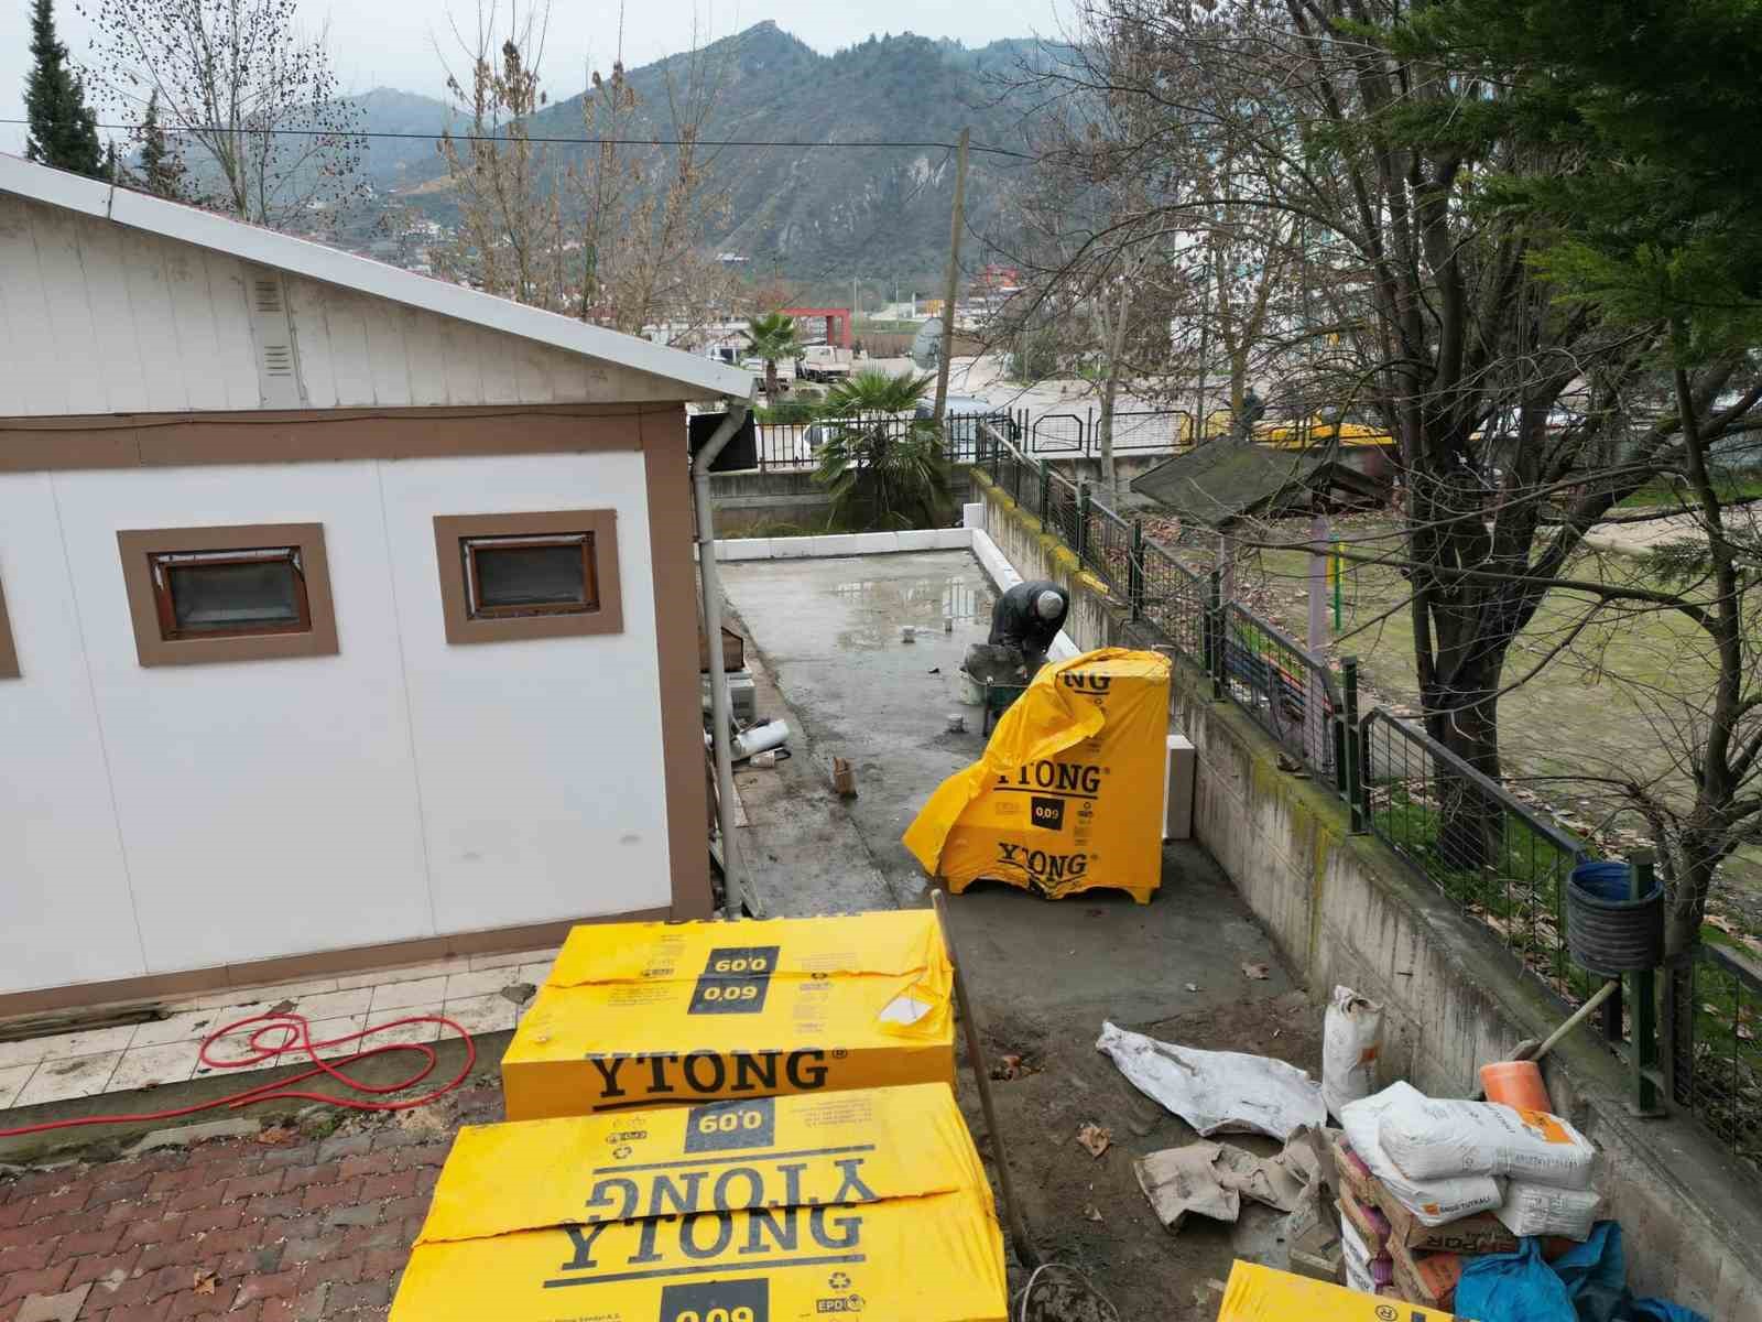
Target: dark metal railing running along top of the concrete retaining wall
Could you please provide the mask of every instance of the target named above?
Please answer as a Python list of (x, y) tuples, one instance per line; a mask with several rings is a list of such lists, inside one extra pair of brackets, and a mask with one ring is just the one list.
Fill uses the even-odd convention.
[[(1577, 968), (1566, 950), (1566, 883), (1586, 857), (1577, 837), (1425, 730), (1383, 709), (1360, 717), (1353, 657), (1336, 682), (1323, 659), (1251, 610), (1221, 601), (1216, 569), (1195, 571), (1172, 548), (1147, 541), (1140, 520), (1094, 501), (1087, 483), (1061, 478), (996, 434), (978, 467), (1038, 515), (1124, 601), (1135, 624), (1200, 666), (1214, 698), (1235, 703), (1318, 783), (1334, 786), (1353, 832), (1394, 850), (1563, 1005), (1596, 991), (1603, 978)], [(1665, 1082), (1677, 1107), (1762, 1170), (1762, 973), (1702, 945), (1658, 984), (1663, 1068), (1647, 1065), (1646, 1043), (1626, 1049), (1630, 1065)], [(1623, 1051), (1623, 1035), (1646, 1017), (1632, 1005), (1625, 1015), (1621, 998), (1603, 1010), (1603, 1036)]]

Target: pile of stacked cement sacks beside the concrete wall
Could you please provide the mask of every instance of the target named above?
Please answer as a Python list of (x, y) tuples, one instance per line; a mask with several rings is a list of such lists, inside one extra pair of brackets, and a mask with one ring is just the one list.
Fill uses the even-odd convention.
[(1394, 1084), (1346, 1103), (1341, 1125), (1343, 1223), (1360, 1237), (1367, 1223), (1387, 1225), (1392, 1280), (1380, 1294), (1448, 1308), (1464, 1259), (1512, 1253), (1521, 1236), (1591, 1232), (1596, 1149), (1559, 1116)]

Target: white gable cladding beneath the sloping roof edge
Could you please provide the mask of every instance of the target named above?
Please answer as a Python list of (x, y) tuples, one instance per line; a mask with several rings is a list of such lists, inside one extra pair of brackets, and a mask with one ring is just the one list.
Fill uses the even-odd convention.
[[(238, 257), (0, 196), (0, 416), (263, 407)], [(654, 377), (285, 275), (310, 407), (666, 398)]]

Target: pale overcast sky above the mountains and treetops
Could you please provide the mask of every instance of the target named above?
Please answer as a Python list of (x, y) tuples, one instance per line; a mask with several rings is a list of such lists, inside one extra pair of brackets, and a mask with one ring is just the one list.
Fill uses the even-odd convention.
[[(93, 7), (97, 0), (88, 0)], [(726, 37), (766, 18), (775, 19), (821, 53), (863, 41), (869, 33), (916, 32), (983, 46), (999, 37), (1054, 35), (1059, 0), (633, 0), (624, 18), (624, 62), (636, 67), (691, 44), (696, 23)], [(72, 0), (56, 0), (62, 42), (76, 60), (88, 53), (90, 28)], [(476, 0), (301, 0), (307, 23), (329, 23), (337, 72), (349, 92), (396, 86), (442, 93), (435, 42), (453, 44), (448, 16), (472, 19)], [(0, 0), (0, 120), (25, 113), (30, 69), (30, 0)], [(507, 0), (502, 0), (507, 12)], [(615, 0), (555, 0), (544, 53), (553, 95), (581, 90), (580, 71), (604, 67), (618, 44)], [(573, 71), (573, 76), (571, 76)], [(0, 123), (0, 152), (21, 152), (25, 130)]]

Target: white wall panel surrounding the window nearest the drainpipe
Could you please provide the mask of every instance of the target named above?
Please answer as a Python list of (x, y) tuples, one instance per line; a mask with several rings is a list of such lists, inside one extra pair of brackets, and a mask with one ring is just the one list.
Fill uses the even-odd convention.
[[(440, 929), (664, 908), (643, 457), (405, 460), (381, 471)], [(618, 511), (624, 633), (448, 645), (435, 515), (608, 506)]]

